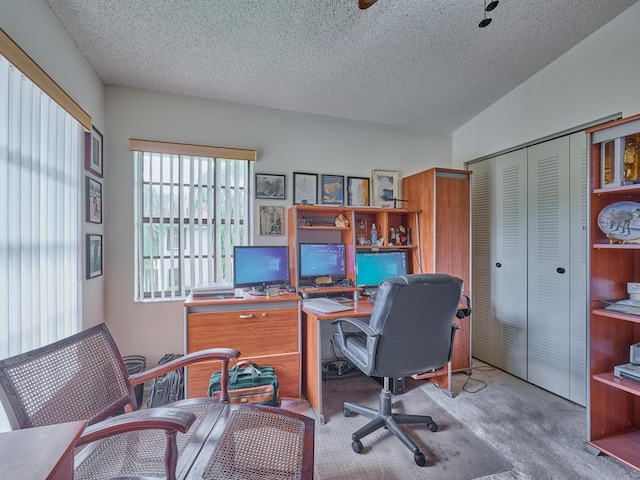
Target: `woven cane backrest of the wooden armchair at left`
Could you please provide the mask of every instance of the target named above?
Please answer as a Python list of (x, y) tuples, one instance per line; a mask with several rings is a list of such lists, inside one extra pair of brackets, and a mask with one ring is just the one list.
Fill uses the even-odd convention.
[(131, 404), (126, 365), (106, 325), (0, 361), (0, 400), (14, 430), (104, 420)]

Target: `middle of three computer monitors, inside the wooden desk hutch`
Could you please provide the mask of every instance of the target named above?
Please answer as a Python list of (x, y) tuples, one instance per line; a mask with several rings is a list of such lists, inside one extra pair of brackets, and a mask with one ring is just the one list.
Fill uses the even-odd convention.
[(344, 243), (300, 243), (299, 277), (305, 283), (314, 283), (319, 277), (330, 277), (332, 283), (347, 276), (347, 255)]

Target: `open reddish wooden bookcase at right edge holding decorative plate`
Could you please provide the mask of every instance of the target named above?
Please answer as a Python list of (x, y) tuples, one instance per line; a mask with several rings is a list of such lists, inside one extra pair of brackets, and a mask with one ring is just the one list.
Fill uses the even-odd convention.
[[(640, 383), (613, 374), (614, 366), (629, 362), (629, 346), (640, 342), (640, 316), (605, 310), (601, 302), (628, 297), (627, 282), (640, 282), (640, 221), (634, 216), (625, 224), (626, 231), (620, 228), (618, 233), (604, 218), (600, 225), (609, 233), (599, 226), (605, 207), (640, 202), (640, 184), (601, 188), (602, 152), (611, 153), (612, 158), (607, 158), (611, 164), (605, 167), (620, 168), (615, 172), (618, 178), (624, 166), (624, 146), (631, 139), (640, 143), (640, 115), (590, 128), (587, 133), (591, 192), (587, 445), (592, 453), (605, 453), (640, 470)], [(608, 151), (609, 142), (622, 148)], [(635, 154), (638, 162), (640, 152), (637, 147), (633, 150), (628, 153)], [(611, 213), (611, 208), (615, 207), (604, 213)]]

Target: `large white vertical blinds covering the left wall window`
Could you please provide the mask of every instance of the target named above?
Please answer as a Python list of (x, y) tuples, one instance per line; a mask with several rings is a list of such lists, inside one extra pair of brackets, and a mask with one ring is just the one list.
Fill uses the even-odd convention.
[(81, 138), (0, 56), (0, 358), (78, 331)]

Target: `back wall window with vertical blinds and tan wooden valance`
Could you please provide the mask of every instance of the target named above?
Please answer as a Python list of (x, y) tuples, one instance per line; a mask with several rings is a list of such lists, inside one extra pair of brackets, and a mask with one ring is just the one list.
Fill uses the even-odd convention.
[[(231, 283), (233, 247), (249, 243), (252, 178), (251, 158), (234, 157), (253, 152), (255, 158), (255, 152), (133, 139), (130, 148), (136, 171), (136, 300), (181, 298), (197, 285)], [(194, 148), (231, 158), (189, 154)]]

